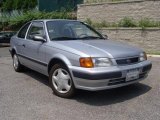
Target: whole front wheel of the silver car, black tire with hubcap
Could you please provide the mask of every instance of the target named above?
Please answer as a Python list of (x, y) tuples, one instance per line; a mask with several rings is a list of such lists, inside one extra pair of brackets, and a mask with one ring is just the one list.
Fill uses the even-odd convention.
[(75, 94), (75, 87), (69, 70), (63, 64), (55, 64), (49, 73), (49, 82), (55, 95), (70, 98)]

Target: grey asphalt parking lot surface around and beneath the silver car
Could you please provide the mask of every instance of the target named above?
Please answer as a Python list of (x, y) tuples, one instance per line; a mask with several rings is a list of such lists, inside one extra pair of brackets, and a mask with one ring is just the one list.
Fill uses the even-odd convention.
[(144, 81), (99, 92), (55, 96), (48, 78), (16, 73), (8, 47), (0, 48), (0, 120), (160, 120), (160, 58)]

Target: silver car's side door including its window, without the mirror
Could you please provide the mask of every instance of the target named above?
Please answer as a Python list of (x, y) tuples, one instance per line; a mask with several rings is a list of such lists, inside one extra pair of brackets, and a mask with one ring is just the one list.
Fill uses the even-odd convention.
[(45, 27), (43, 22), (32, 22), (25, 40), (25, 57), (27, 59), (26, 66), (45, 73), (47, 71), (47, 64), (45, 60), (45, 46), (46, 42), (35, 41), (31, 36), (45, 36)]

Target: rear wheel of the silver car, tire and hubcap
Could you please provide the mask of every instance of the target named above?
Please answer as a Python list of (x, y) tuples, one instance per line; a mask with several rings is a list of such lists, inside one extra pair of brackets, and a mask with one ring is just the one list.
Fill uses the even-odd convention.
[(23, 65), (19, 62), (16, 53), (13, 54), (13, 68), (16, 72), (21, 72), (23, 70)]

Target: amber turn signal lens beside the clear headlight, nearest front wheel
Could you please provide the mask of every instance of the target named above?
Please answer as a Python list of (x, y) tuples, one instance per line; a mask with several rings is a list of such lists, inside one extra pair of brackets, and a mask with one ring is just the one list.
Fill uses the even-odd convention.
[(80, 66), (81, 67), (85, 67), (85, 68), (92, 68), (94, 67), (93, 62), (92, 62), (92, 58), (80, 58), (79, 59), (80, 62)]

